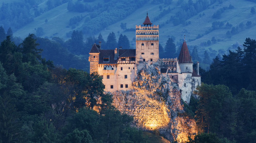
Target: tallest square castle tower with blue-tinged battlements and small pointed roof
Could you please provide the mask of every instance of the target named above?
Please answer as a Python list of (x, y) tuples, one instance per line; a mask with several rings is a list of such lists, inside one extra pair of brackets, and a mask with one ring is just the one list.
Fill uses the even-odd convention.
[(141, 69), (143, 63), (154, 63), (159, 59), (158, 25), (151, 26), (148, 13), (143, 24), (144, 26), (136, 25), (137, 70)]

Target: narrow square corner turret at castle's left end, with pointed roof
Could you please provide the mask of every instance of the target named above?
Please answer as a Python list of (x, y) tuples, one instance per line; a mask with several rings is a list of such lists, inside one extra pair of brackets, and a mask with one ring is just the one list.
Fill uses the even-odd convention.
[(99, 65), (99, 50), (96, 43), (93, 44), (92, 49), (89, 52), (89, 62), (90, 62), (90, 73), (98, 72)]

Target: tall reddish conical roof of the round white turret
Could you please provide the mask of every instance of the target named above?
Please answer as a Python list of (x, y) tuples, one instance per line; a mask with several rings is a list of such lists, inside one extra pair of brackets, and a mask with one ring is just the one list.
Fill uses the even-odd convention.
[(186, 44), (185, 40), (183, 41), (183, 44), (182, 44), (182, 47), (181, 47), (181, 52), (180, 52), (178, 60), (179, 60), (179, 64), (180, 63), (181, 64), (182, 63), (193, 63), (191, 61), (191, 58), (190, 58), (188, 48), (187, 48), (187, 44)]

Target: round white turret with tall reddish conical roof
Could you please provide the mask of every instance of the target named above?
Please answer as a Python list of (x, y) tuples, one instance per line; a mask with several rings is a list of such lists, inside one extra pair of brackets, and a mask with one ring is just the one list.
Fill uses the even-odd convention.
[(187, 48), (187, 44), (184, 38), (182, 47), (181, 47), (181, 52), (179, 55), (179, 65), (181, 68), (181, 72), (193, 72), (193, 62), (192, 62), (192, 57), (190, 56)]

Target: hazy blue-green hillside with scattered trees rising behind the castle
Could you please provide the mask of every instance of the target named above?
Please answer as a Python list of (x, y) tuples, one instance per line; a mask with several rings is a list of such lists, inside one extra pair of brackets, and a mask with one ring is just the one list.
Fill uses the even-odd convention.
[[(143, 23), (148, 9), (148, 16), (151, 22), (160, 27), (160, 44), (163, 47), (166, 40), (172, 37), (175, 38), (176, 48), (178, 49), (185, 34), (189, 50), (191, 51), (194, 46), (198, 46), (199, 56), (202, 58), (205, 50), (207, 50), (212, 59), (218, 54), (223, 55), (228, 50), (234, 50), (243, 45), (247, 37), (255, 39), (253, 29), (256, 27), (256, 14), (251, 12), (251, 8), (255, 8), (256, 3), (253, 0), (194, 0), (192, 4), (191, 1), (187, 0), (169, 2), (164, 0), (162, 2), (132, 0), (129, 2), (130, 5), (123, 1), (119, 1), (115, 5), (114, 0), (112, 0), (113, 2), (105, 0), (85, 1), (73, 0), (74, 4), (80, 3), (88, 6), (88, 11), (85, 10), (83, 12), (68, 10), (68, 2), (64, 3), (64, 1), (61, 5), (50, 10), (48, 10), (49, 4), (47, 4), (47, 0), (37, 1), (35, 5), (38, 10), (41, 10), (39, 10), (41, 12), (40, 15), (33, 17), (32, 22), (20, 28), (11, 27), (15, 29), (13, 30), (13, 35), (24, 39), (29, 33), (36, 34), (36, 29), (42, 27), (43, 34), (39, 37), (47, 37), (49, 39), (60, 37), (68, 40), (73, 30), (82, 30), (85, 41), (90, 36), (98, 37), (99, 33), (102, 34), (104, 40), (107, 40), (107, 36), (113, 31), (117, 40), (120, 34), (126, 35), (133, 48), (135, 30), (132, 29), (135, 29), (135, 25)], [(0, 2), (2, 3), (3, 1)], [(14, 0), (11, 2), (14, 2)], [(191, 5), (196, 9), (198, 8), (196, 5), (206, 5), (207, 7), (201, 9), (201, 11), (197, 10), (199, 12), (193, 12)], [(35, 13), (36, 8), (31, 8), (31, 15)], [(214, 14), (218, 14), (216, 18), (213, 18)], [(113, 19), (110, 17), (105, 22), (108, 16), (111, 15), (113, 15)], [(80, 20), (75, 24), (70, 24), (70, 19), (75, 16), (80, 17)], [(174, 23), (175, 17), (180, 19), (181, 24)], [(184, 17), (184, 19), (181, 17)], [(213, 28), (214, 22), (219, 22), (223, 25), (217, 24), (217, 28)], [(246, 25), (247, 22), (250, 22), (248, 26)], [(127, 23), (126, 28), (129, 30), (122, 30), (121, 23)], [(227, 23), (231, 25), (227, 25)], [(130, 28), (132, 29), (130, 30)], [(235, 30), (232, 31), (232, 28)], [(228, 31), (231, 33), (228, 34)], [(213, 37), (216, 42), (212, 41)]]

